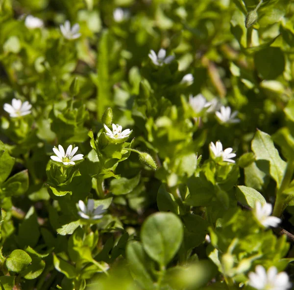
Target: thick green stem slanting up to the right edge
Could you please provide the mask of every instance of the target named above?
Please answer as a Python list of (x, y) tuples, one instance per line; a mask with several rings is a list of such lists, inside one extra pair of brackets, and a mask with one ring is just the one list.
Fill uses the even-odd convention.
[[(283, 177), (282, 183), (276, 192), (276, 200), (273, 208), (273, 215), (280, 217), (285, 208), (287, 207), (287, 201), (289, 200), (287, 196), (283, 196), (283, 192), (289, 186), (294, 173), (294, 160), (289, 160), (287, 163), (285, 175)], [(288, 201), (289, 202), (289, 201)]]

